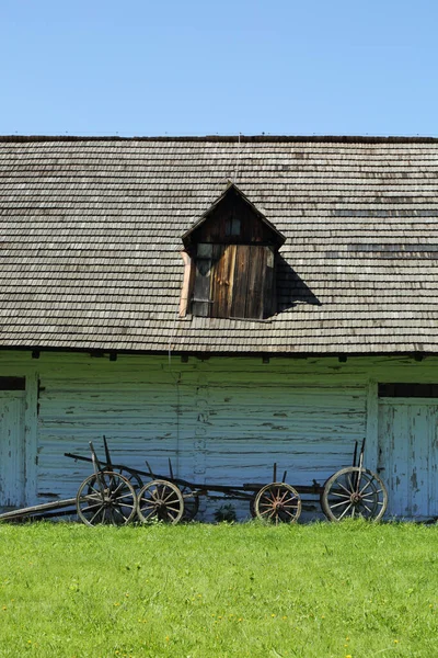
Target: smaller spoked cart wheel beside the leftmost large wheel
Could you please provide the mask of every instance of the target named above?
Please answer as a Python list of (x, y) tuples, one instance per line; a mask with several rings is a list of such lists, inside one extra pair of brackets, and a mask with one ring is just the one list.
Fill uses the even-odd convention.
[(153, 520), (177, 523), (184, 514), (183, 496), (173, 483), (152, 480), (138, 495), (137, 513), (145, 523)]

